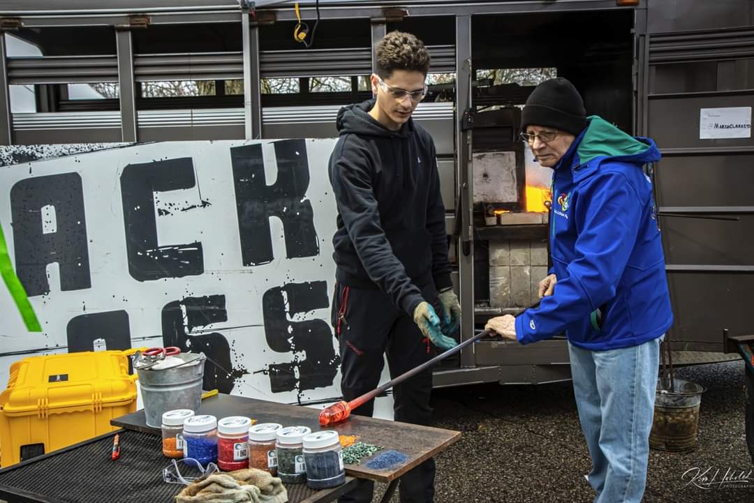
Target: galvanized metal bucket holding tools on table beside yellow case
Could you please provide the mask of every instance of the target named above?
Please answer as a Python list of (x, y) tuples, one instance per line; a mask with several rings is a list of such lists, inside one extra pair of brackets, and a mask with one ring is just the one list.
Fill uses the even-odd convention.
[(173, 409), (191, 409), (194, 412), (201, 407), (201, 385), (204, 378), (204, 353), (180, 353), (171, 358), (179, 358), (183, 363), (164, 367), (164, 365), (146, 365), (139, 368), (138, 355), (133, 367), (139, 373), (146, 424), (160, 428), (162, 414)]

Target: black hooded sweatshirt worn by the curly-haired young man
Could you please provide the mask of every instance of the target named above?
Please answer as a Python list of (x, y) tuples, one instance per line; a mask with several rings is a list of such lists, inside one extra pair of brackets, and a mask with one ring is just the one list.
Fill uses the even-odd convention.
[(369, 115), (374, 99), (342, 108), (329, 159), (338, 204), (336, 279), (379, 288), (413, 315), (420, 288), (452, 286), (445, 208), (431, 136), (412, 119), (398, 131)]

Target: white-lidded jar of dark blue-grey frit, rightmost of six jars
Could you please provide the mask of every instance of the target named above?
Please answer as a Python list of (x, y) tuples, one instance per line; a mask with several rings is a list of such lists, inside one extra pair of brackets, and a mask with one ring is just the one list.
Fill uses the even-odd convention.
[(311, 489), (326, 489), (345, 483), (343, 448), (337, 431), (308, 434), (303, 439), (306, 484)]

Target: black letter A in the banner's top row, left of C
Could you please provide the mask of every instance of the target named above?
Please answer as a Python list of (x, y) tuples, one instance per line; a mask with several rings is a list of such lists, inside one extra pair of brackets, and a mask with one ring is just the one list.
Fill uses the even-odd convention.
[[(52, 206), (49, 220), (42, 215)], [(84, 192), (78, 173), (36, 176), (11, 188), (18, 278), (29, 297), (50, 293), (47, 266), (60, 267), (60, 290), (91, 287)]]

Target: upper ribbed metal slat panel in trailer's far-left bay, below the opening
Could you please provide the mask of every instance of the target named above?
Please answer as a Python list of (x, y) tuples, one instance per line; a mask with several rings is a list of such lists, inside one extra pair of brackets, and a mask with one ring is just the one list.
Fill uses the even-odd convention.
[(10, 84), (118, 82), (113, 56), (35, 56), (8, 58)]

